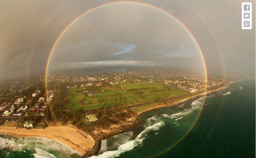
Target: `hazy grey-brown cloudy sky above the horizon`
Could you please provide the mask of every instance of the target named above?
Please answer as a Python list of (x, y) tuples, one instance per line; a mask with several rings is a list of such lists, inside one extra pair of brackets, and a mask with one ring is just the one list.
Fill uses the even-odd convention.
[[(111, 0), (8, 0), (0, 5), (0, 79), (43, 73), (62, 30)], [(140, 2), (140, 1), (136, 1)], [(142, 2), (142, 1), (141, 1)], [(255, 18), (241, 29), (240, 0), (144, 0), (180, 20), (202, 48), (208, 71), (255, 75)], [(246, 1), (250, 2), (250, 1)], [(255, 4), (252, 4), (255, 15)], [(158, 10), (107, 6), (76, 21), (62, 36), (49, 69), (150, 65), (203, 70), (188, 32)]]

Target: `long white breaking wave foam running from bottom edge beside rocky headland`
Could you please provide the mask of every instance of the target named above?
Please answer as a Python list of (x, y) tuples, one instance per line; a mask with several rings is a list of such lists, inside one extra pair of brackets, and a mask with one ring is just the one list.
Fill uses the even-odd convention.
[[(153, 118), (156, 117), (152, 117), (149, 120), (152, 120)], [(154, 120), (154, 119), (153, 119)], [(118, 157), (120, 156), (120, 154), (122, 154), (123, 152), (126, 151), (130, 151), (132, 150), (134, 147), (139, 146), (142, 144), (143, 140), (145, 139), (145, 137), (148, 134), (148, 131), (156, 131), (159, 130), (162, 126), (164, 126), (164, 122), (157, 122), (151, 126), (148, 126), (147, 128), (145, 128), (142, 132), (140, 132), (140, 134), (138, 134), (138, 136), (135, 138), (135, 140), (130, 140), (122, 145), (120, 145), (118, 147), (118, 150), (114, 150), (114, 151), (107, 151), (104, 152), (98, 156), (92, 156), (91, 158), (114, 158), (114, 157)]]

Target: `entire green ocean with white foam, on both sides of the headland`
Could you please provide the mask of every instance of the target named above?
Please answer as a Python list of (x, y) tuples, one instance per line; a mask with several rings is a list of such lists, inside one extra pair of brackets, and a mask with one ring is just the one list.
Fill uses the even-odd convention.
[[(150, 111), (138, 125), (102, 140), (99, 154), (92, 157), (255, 157), (255, 95), (255, 80), (246, 80), (208, 95), (203, 110), (203, 97), (197, 97)], [(78, 157), (46, 138), (1, 137), (1, 158)]]

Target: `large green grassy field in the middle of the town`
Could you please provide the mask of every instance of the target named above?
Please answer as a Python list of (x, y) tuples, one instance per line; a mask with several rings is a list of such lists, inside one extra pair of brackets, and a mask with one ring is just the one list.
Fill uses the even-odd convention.
[(119, 107), (189, 94), (189, 92), (171, 89), (160, 83), (149, 82), (102, 87), (99, 93), (93, 96), (86, 96), (85, 90), (82, 88), (69, 89), (68, 91), (68, 108), (73, 110), (100, 108), (104, 106)]

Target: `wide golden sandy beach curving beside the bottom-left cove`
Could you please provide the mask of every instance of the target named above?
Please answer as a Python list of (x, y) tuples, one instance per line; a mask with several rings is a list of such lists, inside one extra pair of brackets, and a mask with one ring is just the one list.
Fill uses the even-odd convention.
[[(82, 134), (87, 138), (85, 138)], [(73, 150), (76, 150), (79, 155), (84, 155), (94, 146), (94, 139), (92, 136), (80, 130), (77, 132), (76, 128), (68, 126), (49, 126), (45, 129), (26, 129), (16, 128), (11, 126), (0, 126), (0, 134), (9, 134), (13, 137), (45, 137), (54, 139), (60, 143), (66, 144)]]

